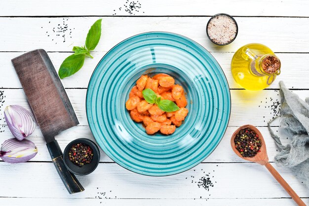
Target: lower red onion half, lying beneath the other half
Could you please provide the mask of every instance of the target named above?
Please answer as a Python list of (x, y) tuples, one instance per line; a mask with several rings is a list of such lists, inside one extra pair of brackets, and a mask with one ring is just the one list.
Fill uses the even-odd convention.
[(37, 153), (38, 148), (32, 141), (11, 138), (3, 142), (0, 157), (7, 163), (22, 163), (31, 160)]

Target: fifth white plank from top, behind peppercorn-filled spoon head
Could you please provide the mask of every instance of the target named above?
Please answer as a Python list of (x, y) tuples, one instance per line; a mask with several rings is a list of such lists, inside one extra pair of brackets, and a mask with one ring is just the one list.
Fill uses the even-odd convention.
[[(207, 157), (203, 162), (209, 163), (209, 162), (215, 162), (215, 163), (230, 163), (230, 162), (247, 162), (239, 158), (237, 155), (235, 155), (232, 151), (230, 139), (232, 137), (233, 132), (237, 129), (237, 127), (228, 127), (224, 137), (222, 138), (220, 144), (218, 147)], [(274, 156), (277, 154), (277, 147), (274, 143), (274, 140), (270, 137), (270, 133), (268, 131), (268, 128), (266, 127), (258, 127), (258, 129), (263, 134), (263, 137), (266, 141), (267, 145), (267, 152), (269, 155), (270, 161), (274, 160)], [(278, 134), (281, 137), (282, 143), (287, 143), (291, 141), (291, 139), (286, 139), (288, 137), (283, 130), (278, 130), (278, 128), (274, 127), (274, 131), (278, 131)], [(6, 127), (4, 128), (4, 132), (0, 133), (0, 144), (8, 138), (13, 138), (13, 135), (9, 131), (9, 129)], [(77, 138), (88, 138), (93, 141), (95, 141), (94, 137), (91, 134), (91, 131), (89, 127), (74, 127), (69, 130), (66, 130), (62, 133), (60, 133), (58, 136), (56, 136), (56, 139), (62, 149), (64, 151), (65, 147), (69, 144), (70, 141), (77, 139)], [(39, 131), (39, 128), (35, 130), (35, 132), (30, 136), (27, 137), (27, 139), (33, 141), (36, 146), (38, 147), (38, 154), (35, 158), (33, 158), (31, 161), (51, 161), (49, 153), (47, 151), (45, 141), (43, 139), (43, 136), (41, 132)], [(111, 160), (101, 149), (101, 162), (114, 162)]]

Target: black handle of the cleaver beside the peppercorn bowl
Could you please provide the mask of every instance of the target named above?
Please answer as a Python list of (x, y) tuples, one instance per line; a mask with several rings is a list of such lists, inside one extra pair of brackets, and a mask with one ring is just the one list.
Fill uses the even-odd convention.
[(59, 147), (57, 140), (51, 141), (46, 144), (51, 159), (56, 167), (56, 170), (63, 181), (64, 185), (66, 186), (68, 192), (70, 194), (74, 194), (77, 192), (84, 191), (82, 185), (78, 182), (76, 176), (72, 174), (63, 162), (63, 153)]

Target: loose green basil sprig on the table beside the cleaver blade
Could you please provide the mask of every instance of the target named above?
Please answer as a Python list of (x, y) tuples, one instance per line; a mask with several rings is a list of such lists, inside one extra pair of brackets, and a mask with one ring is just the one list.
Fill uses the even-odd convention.
[(99, 19), (91, 26), (86, 37), (85, 46), (73, 47), (75, 53), (63, 61), (58, 71), (61, 79), (75, 74), (83, 66), (86, 56), (93, 59), (90, 55), (90, 51), (94, 50), (99, 43), (101, 37), (101, 22), (102, 19)]

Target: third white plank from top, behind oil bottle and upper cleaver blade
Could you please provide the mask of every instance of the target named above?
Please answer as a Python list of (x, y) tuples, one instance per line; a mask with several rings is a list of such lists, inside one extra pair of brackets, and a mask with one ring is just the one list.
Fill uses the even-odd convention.
[[(22, 88), (17, 78), (15, 69), (11, 63), (11, 59), (22, 55), (23, 52), (2, 52), (0, 53), (0, 87), (4, 88)], [(87, 88), (91, 74), (101, 58), (106, 52), (94, 52), (94, 59), (87, 58), (84, 66), (76, 74), (71, 77), (62, 79), (65, 88)], [(241, 88), (233, 79), (231, 72), (231, 60), (234, 53), (212, 52), (211, 53), (222, 67), (230, 88)], [(60, 68), (63, 60), (71, 55), (68, 52), (49, 52), (51, 61), (54, 64), (56, 71)], [(309, 54), (293, 54), (293, 53), (278, 53), (277, 56), (282, 62), (281, 74), (269, 88), (278, 89), (279, 80), (283, 80), (290, 88), (294, 89), (309, 89), (309, 81), (306, 77), (309, 76)]]

